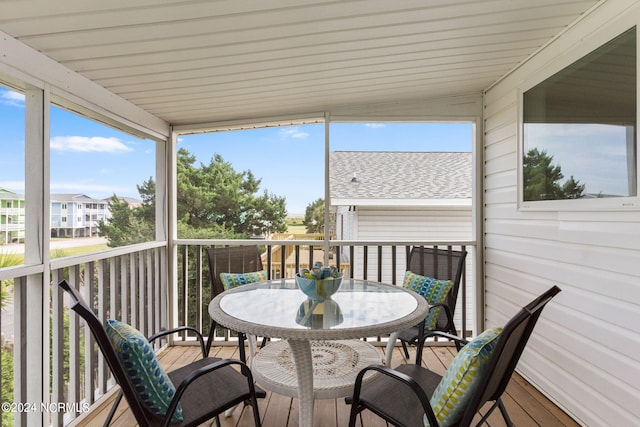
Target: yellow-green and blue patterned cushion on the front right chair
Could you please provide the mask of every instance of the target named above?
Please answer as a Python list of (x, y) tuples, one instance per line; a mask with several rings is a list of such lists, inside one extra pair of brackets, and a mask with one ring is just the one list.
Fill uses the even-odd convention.
[[(500, 332), (502, 328), (491, 328), (478, 335), (460, 350), (447, 368), (430, 400), (441, 427), (460, 421), (487, 368)], [(424, 425), (429, 425), (426, 415)]]

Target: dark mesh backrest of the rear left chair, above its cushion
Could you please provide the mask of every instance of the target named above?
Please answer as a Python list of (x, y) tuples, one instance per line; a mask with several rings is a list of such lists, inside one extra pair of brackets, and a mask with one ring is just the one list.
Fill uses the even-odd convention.
[(257, 245), (228, 246), (206, 249), (211, 273), (211, 298), (222, 293), (220, 273), (251, 273), (262, 270), (262, 258)]

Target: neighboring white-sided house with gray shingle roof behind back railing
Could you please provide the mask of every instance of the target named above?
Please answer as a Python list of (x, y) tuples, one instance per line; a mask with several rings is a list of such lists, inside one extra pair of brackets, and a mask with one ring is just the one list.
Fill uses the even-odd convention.
[[(338, 240), (472, 240), (471, 153), (337, 151), (329, 164)], [(356, 251), (358, 256), (363, 254)], [(467, 258), (468, 271), (473, 258)], [(371, 261), (368, 275), (376, 277), (377, 262)], [(385, 262), (391, 263), (390, 254)], [(406, 264), (403, 257), (397, 262), (395, 281), (401, 283)], [(473, 275), (466, 277), (471, 308)]]

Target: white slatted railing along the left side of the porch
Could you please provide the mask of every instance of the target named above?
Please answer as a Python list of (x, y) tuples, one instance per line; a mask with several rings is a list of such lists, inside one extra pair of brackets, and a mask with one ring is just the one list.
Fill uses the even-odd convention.
[[(3, 372), (13, 369), (13, 395), (2, 396), (3, 402), (44, 403), (44, 411), (40, 407), (29, 409), (36, 409), (46, 424), (54, 426), (64, 425), (86, 409), (90, 410), (113, 387), (113, 380), (90, 331), (70, 312), (69, 299), (57, 284), (65, 279), (79, 289), (101, 320), (119, 319), (150, 335), (168, 324), (166, 252), (166, 243), (156, 242), (50, 262), (51, 286), (45, 293), (49, 295), (43, 295), (42, 301), (49, 308), (45, 309), (47, 315), (42, 325), (43, 335), (49, 336), (49, 340), (39, 349), (43, 355), (40, 365), (48, 372), (45, 377), (48, 381), (41, 386), (41, 393), (35, 393), (42, 396), (38, 402), (31, 402), (29, 396), (34, 393), (28, 391), (33, 387), (29, 375), (34, 372), (30, 364), (33, 359), (28, 354), (34, 349), (30, 348), (30, 331), (26, 325), (33, 309), (27, 307), (25, 296), (29, 278), (43, 274), (44, 268), (40, 265), (0, 270), (0, 280), (13, 280), (12, 310), (10, 315), (5, 311), (3, 317), (11, 317), (14, 323), (13, 336), (6, 337), (0, 349), (2, 353), (13, 354), (13, 366), (5, 366), (9, 358), (2, 358)], [(0, 322), (7, 320), (0, 318)], [(65, 405), (64, 410), (50, 410), (58, 404)], [(30, 425), (33, 423), (31, 412), (17, 411), (11, 421), (16, 425)]]

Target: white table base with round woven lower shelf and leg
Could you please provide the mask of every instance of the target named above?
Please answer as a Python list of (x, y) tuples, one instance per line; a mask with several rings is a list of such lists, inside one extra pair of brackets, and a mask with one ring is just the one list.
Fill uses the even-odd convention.
[(380, 352), (360, 340), (274, 341), (252, 359), (256, 382), (275, 393), (299, 399), (299, 425), (313, 424), (315, 399), (350, 396), (356, 375), (381, 363)]

